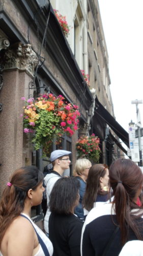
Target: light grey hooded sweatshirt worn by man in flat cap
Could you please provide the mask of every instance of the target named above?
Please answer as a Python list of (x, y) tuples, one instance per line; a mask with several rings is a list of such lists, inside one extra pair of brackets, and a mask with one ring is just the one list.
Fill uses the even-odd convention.
[(50, 217), (50, 210), (49, 210), (49, 196), (50, 196), (50, 193), (51, 193), (51, 190), (55, 184), (55, 182), (57, 180), (59, 180), (61, 178), (60, 175), (56, 175), (55, 173), (50, 173), (50, 174), (47, 174), (44, 178), (44, 184), (46, 186), (46, 195), (47, 195), (47, 212), (46, 212), (46, 215), (45, 215), (45, 219), (44, 219), (44, 229), (47, 233), (49, 233), (49, 227), (48, 227), (48, 223), (49, 223), (49, 217)]

